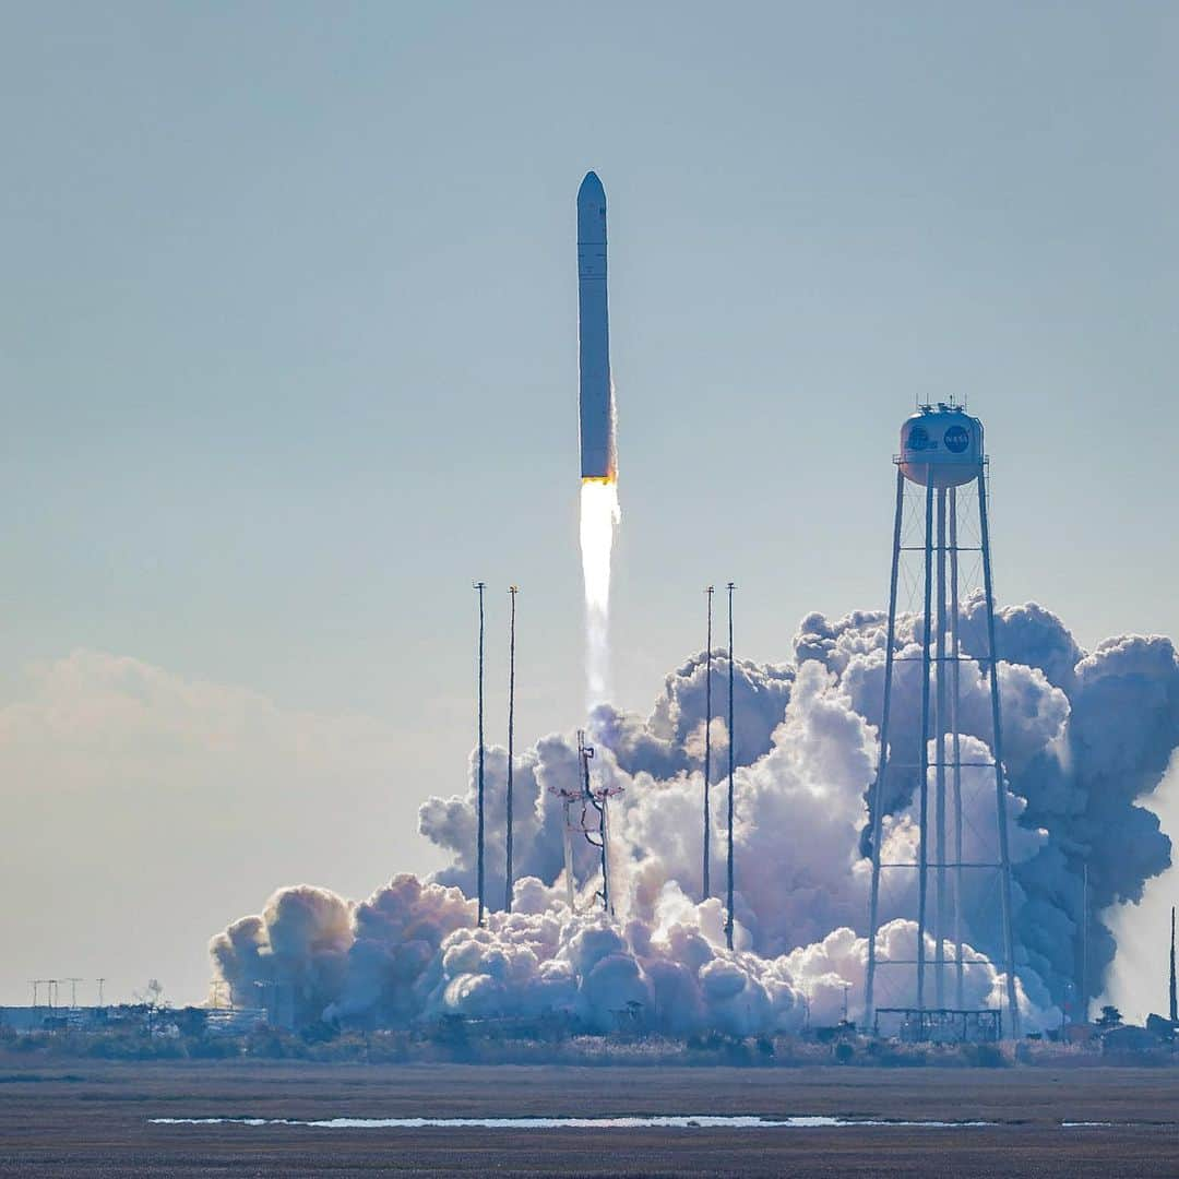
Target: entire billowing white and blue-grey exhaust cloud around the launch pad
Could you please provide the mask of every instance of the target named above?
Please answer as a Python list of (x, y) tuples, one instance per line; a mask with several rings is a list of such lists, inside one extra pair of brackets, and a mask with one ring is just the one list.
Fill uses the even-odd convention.
[[(898, 653), (913, 654), (920, 619), (904, 617)], [(1080, 980), (1081, 870), (1088, 864), (1091, 992), (1114, 954), (1104, 908), (1141, 896), (1170, 863), (1170, 839), (1141, 801), (1179, 745), (1179, 661), (1167, 639), (1126, 637), (1081, 652), (1036, 605), (996, 617), (1005, 717), (1009, 841), (1015, 876), (1016, 974), (1028, 1026), (1053, 1025)], [(968, 653), (986, 647), (982, 602), (962, 604)], [(514, 911), (475, 928), (475, 789), (429, 798), (422, 834), (452, 857), (429, 882), (401, 876), (349, 904), (322, 890), (277, 893), (261, 917), (236, 922), (212, 944), (235, 989), (289, 980), (310, 1015), (406, 1023), (447, 1013), (565, 1012), (586, 1026), (621, 1020), (687, 1034), (789, 1032), (809, 1009), (835, 1022), (848, 990), (863, 1005), (870, 830), (867, 798), (878, 758), (885, 619), (811, 614), (795, 661), (733, 668), (737, 733), (733, 842), (736, 949), (724, 946), (722, 904), (702, 900), (704, 654), (672, 672), (646, 718), (601, 706), (594, 773), (620, 788), (612, 810), (615, 921), (595, 910), (597, 851), (577, 841), (575, 913), (566, 904), (561, 805), (575, 788), (572, 735), (519, 755)], [(896, 664), (894, 758), (920, 750), (920, 661)], [(727, 664), (713, 657), (713, 700)], [(962, 758), (989, 759), (989, 689), (962, 666)], [(727, 835), (723, 768), (729, 733), (713, 719), (713, 849)], [(908, 751), (908, 752), (905, 752)], [(487, 756), (487, 895), (503, 895), (506, 753)], [(896, 773), (884, 801), (883, 858), (913, 862), (916, 776)], [(964, 768), (968, 861), (996, 857), (994, 771)], [(719, 852), (723, 855), (723, 851)], [(713, 868), (713, 880), (723, 864)], [(882, 893), (881, 957), (911, 961), (916, 874), (890, 874)], [(994, 874), (967, 874), (962, 898), (966, 1001), (1000, 1006), (1003, 980)], [(927, 943), (933, 959), (933, 942)], [(947, 957), (953, 946), (947, 947)], [(883, 968), (878, 1002), (915, 1002), (911, 968)]]

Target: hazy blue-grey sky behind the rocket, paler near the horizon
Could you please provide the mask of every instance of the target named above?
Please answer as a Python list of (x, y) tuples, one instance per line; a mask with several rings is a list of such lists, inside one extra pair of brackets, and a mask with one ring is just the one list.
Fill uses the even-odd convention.
[[(1003, 601), (1179, 633), (1171, 4), (6, 4), (0, 1001), (435, 867), (474, 595), (582, 700), (574, 196), (611, 232), (617, 698), (880, 607), (966, 399)], [(86, 983), (85, 986), (90, 986)]]

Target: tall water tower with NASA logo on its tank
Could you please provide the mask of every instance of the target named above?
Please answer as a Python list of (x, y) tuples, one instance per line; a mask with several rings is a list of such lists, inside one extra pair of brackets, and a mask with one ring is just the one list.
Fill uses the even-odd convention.
[[(1019, 1007), (1015, 990), (1015, 953), (1012, 930), (1012, 868), (1007, 834), (1007, 791), (1003, 784), (1002, 717), (995, 656), (995, 597), (990, 573), (990, 535), (987, 522), (987, 459), (982, 444), (982, 422), (953, 403), (921, 406), (901, 427), (901, 453), (894, 460), (896, 473), (896, 516), (893, 528), (893, 568), (889, 588), (888, 647), (884, 664), (884, 700), (881, 713), (881, 753), (871, 791), (872, 878), (869, 911), (868, 975), (865, 980), (865, 1023), (871, 1026), (876, 1006), (876, 974), (880, 968), (916, 969), (916, 1010), (922, 1027), (934, 1013), (950, 1016), (947, 1003), (948, 964), (946, 942), (955, 947), (953, 968), (955, 1005), (963, 1007), (962, 898), (964, 874), (997, 874), (1003, 969), (1007, 974), (1008, 1029), (1019, 1035)], [(973, 487), (970, 485), (974, 485)], [(960, 494), (961, 493), (961, 494)], [(971, 502), (976, 500), (976, 503)], [(907, 502), (908, 501), (908, 502)], [(976, 514), (975, 514), (976, 513)], [(976, 533), (960, 542), (960, 525), (969, 516)], [(896, 651), (897, 590), (907, 554), (921, 561), (913, 578), (922, 590), (918, 614), (918, 656)], [(960, 567), (967, 558), (982, 565), (982, 597), (986, 611), (986, 648), (967, 654), (960, 643)], [(911, 559), (911, 558), (910, 558)], [(915, 604), (916, 605), (916, 604)], [(911, 650), (911, 648), (910, 648)], [(921, 664), (920, 716), (894, 714), (894, 674), (902, 659)], [(989, 685), (990, 755), (987, 762), (963, 763), (960, 732), (960, 680), (963, 665), (977, 667)], [(896, 745), (900, 731), (915, 739)], [(891, 744), (890, 744), (891, 742)], [(934, 760), (930, 763), (930, 747)], [(913, 760), (909, 762), (908, 757)], [(962, 829), (962, 770), (994, 772), (995, 855), (966, 861)], [(933, 770), (933, 775), (930, 775)], [(882, 863), (882, 819), (885, 809), (897, 801), (897, 780), (909, 777), (920, 793), (920, 839), (916, 863)], [(930, 777), (933, 782), (930, 783)], [(989, 779), (988, 779), (989, 780)], [(890, 784), (894, 789), (890, 791)], [(904, 782), (900, 782), (904, 797)], [(949, 786), (949, 790), (947, 790)], [(989, 785), (987, 791), (989, 793)], [(933, 792), (933, 799), (930, 799)], [(930, 816), (933, 802), (933, 816)], [(989, 806), (989, 803), (988, 803)], [(930, 823), (933, 817), (933, 823)], [(953, 839), (949, 838), (950, 829)], [(917, 948), (913, 961), (877, 959), (880, 929), (881, 871), (911, 869), (917, 874)], [(929, 884), (933, 874), (934, 904)], [(953, 909), (953, 916), (951, 910)], [(933, 1003), (929, 1003), (927, 935), (934, 941)]]

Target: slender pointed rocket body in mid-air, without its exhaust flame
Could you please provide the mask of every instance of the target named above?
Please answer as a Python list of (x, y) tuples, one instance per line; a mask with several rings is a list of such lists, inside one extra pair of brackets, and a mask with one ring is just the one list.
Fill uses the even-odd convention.
[(578, 356), (581, 477), (613, 482), (618, 453), (606, 305), (606, 192), (594, 172), (587, 172), (578, 189)]

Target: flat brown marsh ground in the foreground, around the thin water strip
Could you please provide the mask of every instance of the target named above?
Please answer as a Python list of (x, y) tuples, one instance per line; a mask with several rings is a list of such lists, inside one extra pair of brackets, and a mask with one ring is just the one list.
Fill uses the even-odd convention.
[[(835, 1114), (948, 1129), (322, 1129), (150, 1118)], [(1062, 1121), (1135, 1122), (1061, 1128)], [(1179, 1069), (0, 1063), (0, 1174), (1179, 1175)]]

